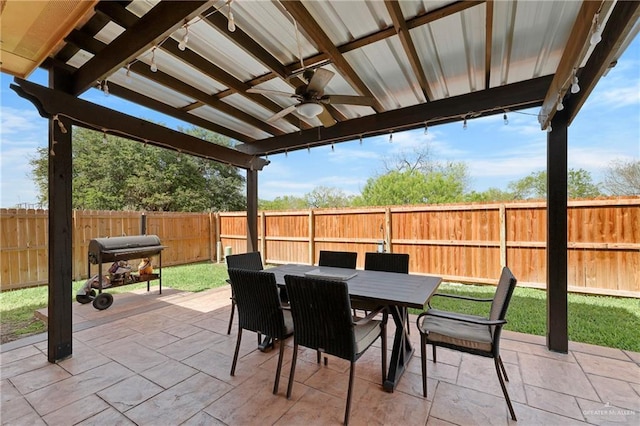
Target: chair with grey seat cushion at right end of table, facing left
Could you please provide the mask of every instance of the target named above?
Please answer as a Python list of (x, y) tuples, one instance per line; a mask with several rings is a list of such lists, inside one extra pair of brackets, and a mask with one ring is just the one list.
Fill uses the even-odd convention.
[(436, 346), (493, 358), (509, 413), (513, 420), (517, 420), (509, 392), (504, 384), (505, 380), (509, 381), (509, 377), (500, 357), (500, 333), (502, 326), (507, 323), (505, 319), (507, 309), (516, 283), (517, 280), (509, 268), (504, 267), (492, 299), (477, 299), (441, 293), (434, 295), (471, 302), (491, 302), (491, 309), (488, 318), (432, 308), (420, 314), (417, 324), (422, 347), (422, 393), (425, 398), (427, 397), (427, 344), (433, 346), (434, 363), (436, 362)]

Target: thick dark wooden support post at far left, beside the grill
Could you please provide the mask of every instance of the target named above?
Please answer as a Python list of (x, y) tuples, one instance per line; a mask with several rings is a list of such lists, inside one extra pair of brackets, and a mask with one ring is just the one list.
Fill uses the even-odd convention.
[[(68, 87), (68, 76), (57, 69), (49, 73), (49, 86)], [(67, 87), (65, 87), (67, 86)], [(71, 183), (71, 121), (65, 117), (49, 120), (49, 362), (72, 355), (73, 235)]]

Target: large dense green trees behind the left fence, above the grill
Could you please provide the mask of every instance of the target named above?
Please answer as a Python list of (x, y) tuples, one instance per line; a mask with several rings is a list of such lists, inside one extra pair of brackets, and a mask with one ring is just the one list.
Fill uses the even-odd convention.
[[(229, 141), (201, 129), (180, 129), (212, 143)], [(206, 211), (246, 208), (244, 178), (235, 167), (74, 127), (76, 209)], [(39, 201), (48, 197), (47, 149), (30, 160)]]

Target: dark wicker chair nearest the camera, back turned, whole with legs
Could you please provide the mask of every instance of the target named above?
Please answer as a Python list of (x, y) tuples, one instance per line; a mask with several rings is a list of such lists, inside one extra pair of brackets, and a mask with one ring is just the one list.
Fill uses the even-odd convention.
[[(349, 423), (355, 363), (380, 337), (382, 354), (382, 383), (387, 376), (387, 312), (384, 308), (366, 318), (354, 321), (347, 283), (285, 275), (293, 317), (293, 359), (287, 387), (291, 398), (298, 346), (315, 349), (351, 362), (349, 390), (344, 424)], [(382, 313), (382, 320), (374, 319)], [(318, 359), (319, 362), (319, 359)]]

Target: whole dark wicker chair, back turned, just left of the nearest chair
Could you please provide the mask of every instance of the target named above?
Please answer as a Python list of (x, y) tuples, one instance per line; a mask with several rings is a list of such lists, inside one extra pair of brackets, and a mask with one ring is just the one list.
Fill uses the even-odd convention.
[(284, 339), (293, 334), (291, 312), (283, 309), (278, 295), (275, 275), (265, 271), (229, 269), (231, 287), (238, 308), (238, 339), (231, 364), (231, 375), (236, 371), (238, 352), (242, 340), (242, 330), (265, 334), (273, 339), (274, 347), (279, 342), (278, 367), (273, 385), (273, 393), (278, 393)]

